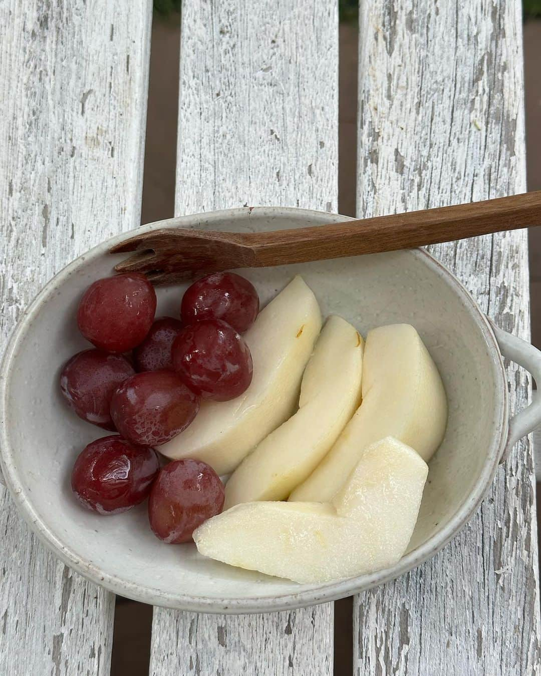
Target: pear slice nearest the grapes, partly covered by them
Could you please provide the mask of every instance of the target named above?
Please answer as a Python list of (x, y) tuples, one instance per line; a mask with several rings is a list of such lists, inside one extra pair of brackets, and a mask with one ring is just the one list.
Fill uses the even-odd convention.
[(296, 276), (243, 335), (254, 362), (250, 387), (229, 402), (202, 402), (193, 423), (158, 450), (228, 474), (296, 409), (302, 372), (321, 331), (316, 297)]

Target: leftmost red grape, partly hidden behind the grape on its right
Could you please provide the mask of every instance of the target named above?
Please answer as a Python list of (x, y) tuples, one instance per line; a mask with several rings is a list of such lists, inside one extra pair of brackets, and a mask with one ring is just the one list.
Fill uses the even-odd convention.
[(80, 418), (114, 430), (110, 412), (113, 392), (134, 373), (133, 366), (121, 354), (85, 349), (66, 362), (60, 374), (60, 389)]

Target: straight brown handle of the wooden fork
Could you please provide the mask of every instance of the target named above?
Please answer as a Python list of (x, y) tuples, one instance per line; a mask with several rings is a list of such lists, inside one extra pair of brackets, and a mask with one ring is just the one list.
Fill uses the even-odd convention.
[(541, 224), (541, 191), (481, 202), (267, 233), (240, 235), (252, 266), (412, 249)]

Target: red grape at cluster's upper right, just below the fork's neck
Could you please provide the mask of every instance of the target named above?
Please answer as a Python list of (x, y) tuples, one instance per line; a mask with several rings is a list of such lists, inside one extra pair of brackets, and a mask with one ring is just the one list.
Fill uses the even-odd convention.
[(198, 279), (182, 299), (185, 324), (200, 319), (222, 319), (243, 333), (259, 312), (258, 292), (254, 285), (234, 272), (214, 272)]

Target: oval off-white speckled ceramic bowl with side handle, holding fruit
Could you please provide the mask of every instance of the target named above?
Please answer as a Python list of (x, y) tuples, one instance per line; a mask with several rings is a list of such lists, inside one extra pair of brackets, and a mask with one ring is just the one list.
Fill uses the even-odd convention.
[[(298, 209), (236, 209), (151, 224), (256, 231), (348, 220)], [(1, 468), (28, 524), (73, 569), (137, 600), (204, 612), (263, 612), (314, 604), (386, 582), (438, 552), (465, 525), (490, 486), (502, 454), (541, 422), (541, 404), (508, 424), (500, 349), (541, 382), (541, 353), (492, 329), (469, 293), (421, 250), (241, 271), (262, 304), (300, 273), (323, 314), (341, 314), (363, 334), (413, 324), (440, 368), (449, 402), (444, 443), (430, 462), (419, 521), (408, 553), (390, 569), (323, 585), (299, 585), (203, 558), (193, 545), (171, 546), (151, 533), (146, 503), (118, 516), (80, 507), (70, 490), (76, 454), (100, 429), (71, 414), (60, 397), (62, 364), (88, 347), (76, 329), (78, 299), (121, 256), (105, 242), (57, 274), (24, 313), (0, 375)], [(176, 314), (183, 289), (158, 289), (158, 315)], [(496, 331), (496, 336), (494, 335)], [(499, 348), (498, 348), (499, 342)]]

